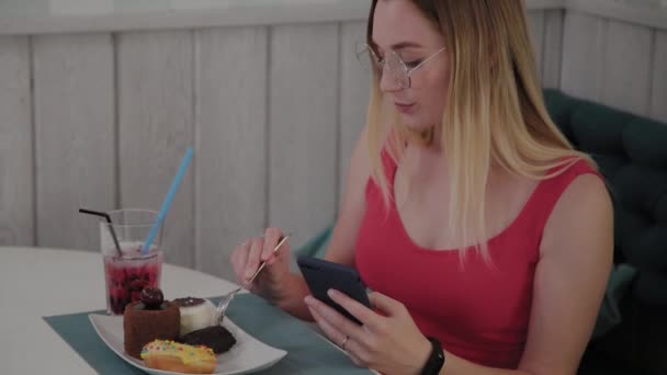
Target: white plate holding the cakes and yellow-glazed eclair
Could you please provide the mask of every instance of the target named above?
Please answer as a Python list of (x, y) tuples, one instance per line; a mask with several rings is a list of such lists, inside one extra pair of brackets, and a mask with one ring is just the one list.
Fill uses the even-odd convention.
[[(88, 317), (102, 341), (125, 362), (149, 374), (182, 374), (146, 367), (144, 361), (139, 361), (125, 353), (123, 349), (122, 316), (89, 314)], [(271, 367), (287, 354), (284, 350), (269, 346), (255, 339), (238, 328), (229, 318), (225, 318), (223, 326), (234, 334), (236, 344), (229, 351), (217, 356), (217, 367), (215, 367), (214, 374), (231, 375), (261, 371)]]

